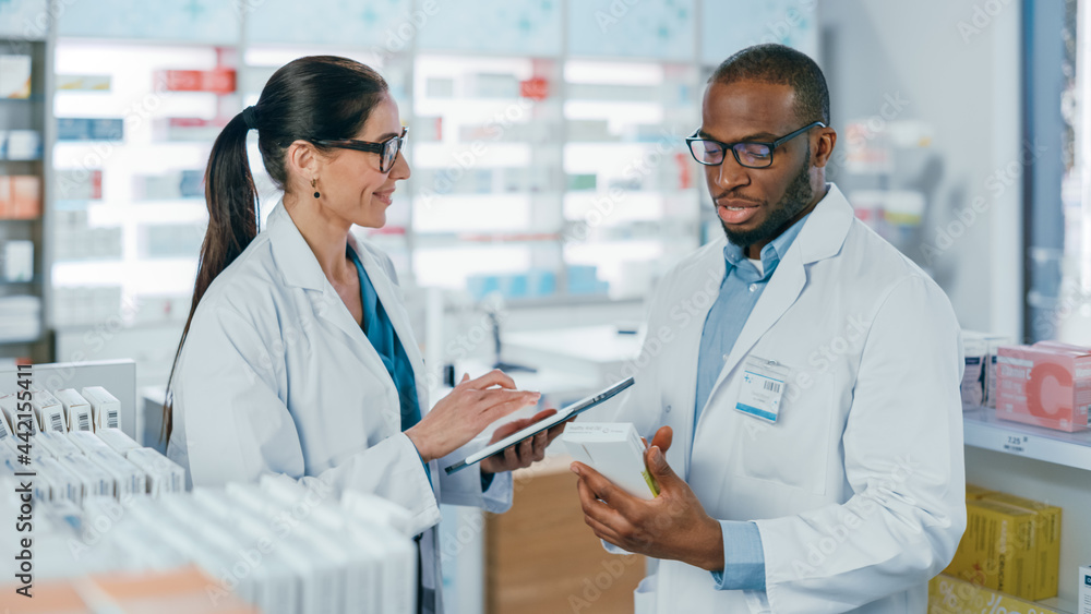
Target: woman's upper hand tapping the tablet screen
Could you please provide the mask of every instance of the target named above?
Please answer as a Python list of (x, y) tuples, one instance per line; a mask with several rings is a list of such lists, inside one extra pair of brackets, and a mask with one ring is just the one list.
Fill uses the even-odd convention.
[(516, 390), (515, 382), (497, 370), (477, 380), (464, 375), (449, 395), (406, 431), (406, 436), (428, 462), (463, 447), (489, 424), (537, 404), (540, 397), (539, 393)]

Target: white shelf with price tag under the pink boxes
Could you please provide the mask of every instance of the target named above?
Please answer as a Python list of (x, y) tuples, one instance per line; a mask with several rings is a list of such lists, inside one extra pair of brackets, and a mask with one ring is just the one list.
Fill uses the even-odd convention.
[(1091, 431), (1066, 433), (996, 418), (986, 407), (962, 413), (966, 445), (1091, 471)]

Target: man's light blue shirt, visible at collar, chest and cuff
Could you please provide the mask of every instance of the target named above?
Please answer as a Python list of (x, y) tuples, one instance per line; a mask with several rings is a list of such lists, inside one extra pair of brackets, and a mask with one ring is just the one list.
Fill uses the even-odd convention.
[[(693, 417), (694, 431), (700, 420), (708, 396), (720, 377), (731, 348), (762, 298), (766, 285), (780, 264), (781, 256), (800, 234), (810, 214), (762, 248), (760, 270), (746, 258), (743, 249), (729, 242), (723, 248), (727, 272), (720, 282), (720, 293), (712, 303), (700, 334), (697, 358), (697, 400)], [(719, 590), (765, 590), (765, 554), (762, 534), (754, 522), (720, 520), (723, 530), (723, 571), (712, 573)]]

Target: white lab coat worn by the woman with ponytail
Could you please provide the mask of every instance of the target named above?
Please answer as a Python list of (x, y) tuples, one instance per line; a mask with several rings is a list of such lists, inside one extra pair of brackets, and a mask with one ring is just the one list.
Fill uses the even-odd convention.
[[(349, 242), (412, 363), (422, 412), (429, 382), (382, 252)], [(440, 586), (439, 503), (503, 511), (511, 473), (481, 491), (479, 466), (446, 475), (465, 456), (430, 463), (401, 433), (397, 389), (379, 353), (331, 286), (283, 204), (197, 305), (173, 384), (168, 455), (199, 486), (255, 481), (265, 473), (320, 477), (336, 492), (373, 493), (400, 504), (423, 532), (422, 580)]]

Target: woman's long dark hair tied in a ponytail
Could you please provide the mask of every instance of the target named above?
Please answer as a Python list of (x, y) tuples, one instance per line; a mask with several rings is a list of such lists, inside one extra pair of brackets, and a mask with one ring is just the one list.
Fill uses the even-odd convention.
[[(295, 141), (351, 139), (363, 129), (387, 86), (374, 70), (347, 58), (292, 60), (269, 77), (257, 104), (235, 116), (216, 137), (205, 169), (208, 228), (201, 244), (190, 314), (175, 352), (163, 407), (163, 441), (170, 438), (171, 383), (193, 313), (213, 279), (257, 236), (257, 190), (247, 158), (247, 134), (257, 130), (257, 148), (277, 186), (289, 188), (285, 164)], [(315, 145), (316, 148), (322, 149)]]

